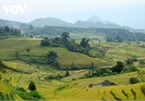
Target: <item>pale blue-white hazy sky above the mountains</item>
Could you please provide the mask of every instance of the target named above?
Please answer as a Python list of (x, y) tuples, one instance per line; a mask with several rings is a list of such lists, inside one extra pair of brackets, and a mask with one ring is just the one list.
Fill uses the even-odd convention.
[(145, 0), (0, 0), (0, 19), (24, 23), (54, 17), (69, 23), (96, 15), (122, 26), (145, 29)]

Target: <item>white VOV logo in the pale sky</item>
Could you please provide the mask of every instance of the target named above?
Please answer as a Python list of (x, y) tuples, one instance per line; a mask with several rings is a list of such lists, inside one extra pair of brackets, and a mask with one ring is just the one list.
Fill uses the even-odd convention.
[(27, 8), (27, 5), (3, 5), (5, 12), (8, 14), (11, 12), (12, 14), (24, 13)]

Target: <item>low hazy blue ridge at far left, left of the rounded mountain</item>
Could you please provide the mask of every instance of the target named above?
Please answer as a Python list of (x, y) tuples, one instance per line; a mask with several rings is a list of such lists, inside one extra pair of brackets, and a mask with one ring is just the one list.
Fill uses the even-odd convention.
[(8, 26), (12, 28), (29, 29), (30, 25), (17, 21), (3, 20), (0, 19), (0, 27)]

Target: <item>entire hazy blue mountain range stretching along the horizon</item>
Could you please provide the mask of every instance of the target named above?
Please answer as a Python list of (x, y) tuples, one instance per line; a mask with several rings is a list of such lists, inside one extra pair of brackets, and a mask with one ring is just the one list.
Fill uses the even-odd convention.
[(123, 29), (133, 30), (128, 26), (121, 26), (116, 23), (112, 23), (108, 20), (103, 21), (100, 18), (98, 18), (96, 15), (86, 19), (85, 21), (78, 20), (75, 23), (69, 23), (53, 17), (38, 18), (29, 23), (22, 23), (22, 22), (0, 19), (0, 26), (29, 29), (30, 25), (33, 25), (35, 27), (44, 27), (44, 26), (80, 27), (80, 28), (96, 27), (96, 28), (123, 28)]

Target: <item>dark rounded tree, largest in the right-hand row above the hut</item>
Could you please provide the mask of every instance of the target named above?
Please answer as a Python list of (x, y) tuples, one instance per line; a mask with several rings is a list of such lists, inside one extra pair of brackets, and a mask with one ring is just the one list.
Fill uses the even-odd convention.
[(117, 64), (112, 68), (112, 72), (120, 73), (124, 69), (124, 63), (121, 61), (117, 61)]

